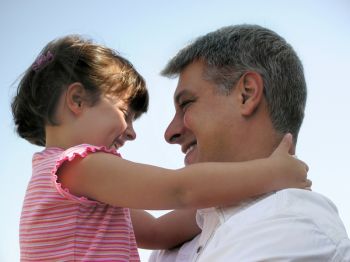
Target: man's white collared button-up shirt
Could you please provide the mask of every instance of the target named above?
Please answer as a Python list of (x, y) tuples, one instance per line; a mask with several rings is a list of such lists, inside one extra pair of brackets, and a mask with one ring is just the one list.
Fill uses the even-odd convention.
[(202, 234), (180, 249), (153, 252), (150, 262), (342, 261), (350, 240), (334, 204), (286, 189), (237, 207), (199, 210)]

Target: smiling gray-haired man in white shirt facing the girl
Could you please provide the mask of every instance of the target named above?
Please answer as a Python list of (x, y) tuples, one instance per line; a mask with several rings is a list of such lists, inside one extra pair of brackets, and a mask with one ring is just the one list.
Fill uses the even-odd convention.
[[(186, 165), (267, 157), (287, 132), (296, 144), (306, 103), (303, 67), (271, 30), (238, 25), (211, 32), (162, 74), (179, 76), (165, 138), (181, 146)], [(350, 261), (336, 207), (315, 192), (286, 189), (199, 210), (197, 222), (199, 236), (153, 253), (151, 261)]]

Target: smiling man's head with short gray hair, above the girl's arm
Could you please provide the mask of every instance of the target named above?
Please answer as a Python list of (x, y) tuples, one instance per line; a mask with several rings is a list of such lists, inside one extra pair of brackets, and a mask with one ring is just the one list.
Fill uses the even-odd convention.
[(271, 30), (238, 25), (211, 32), (182, 49), (162, 74), (180, 76), (165, 137), (183, 151), (196, 145), (187, 163), (262, 157), (283, 134), (297, 139), (306, 103), (303, 67)]

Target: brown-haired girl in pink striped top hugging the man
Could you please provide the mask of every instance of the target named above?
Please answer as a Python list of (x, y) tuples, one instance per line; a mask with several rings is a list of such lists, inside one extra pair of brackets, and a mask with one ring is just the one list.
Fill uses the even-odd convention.
[[(194, 210), (310, 186), (305, 164), (288, 154), (290, 136), (269, 158), (244, 163), (168, 170), (124, 160), (116, 150), (136, 138), (133, 121), (147, 106), (143, 78), (113, 50), (80, 36), (42, 50), (12, 103), (19, 135), (45, 147), (23, 204), (22, 261), (138, 261), (129, 208)], [(154, 219), (134, 210), (139, 247), (190, 239), (194, 212)]]

